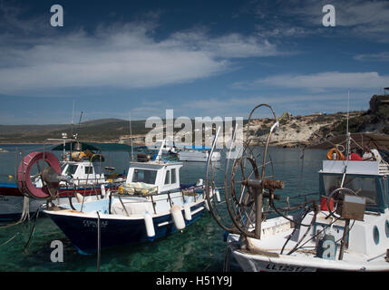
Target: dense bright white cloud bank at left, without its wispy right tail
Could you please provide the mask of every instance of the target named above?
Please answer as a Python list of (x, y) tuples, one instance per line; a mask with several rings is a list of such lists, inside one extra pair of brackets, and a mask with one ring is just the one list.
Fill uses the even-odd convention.
[(224, 60), (207, 53), (190, 51), (180, 43), (165, 45), (146, 35), (143, 26), (112, 34), (83, 32), (42, 39), (31, 47), (4, 45), (0, 48), (0, 92), (28, 92), (35, 89), (118, 86), (152, 87), (189, 82), (220, 73)]

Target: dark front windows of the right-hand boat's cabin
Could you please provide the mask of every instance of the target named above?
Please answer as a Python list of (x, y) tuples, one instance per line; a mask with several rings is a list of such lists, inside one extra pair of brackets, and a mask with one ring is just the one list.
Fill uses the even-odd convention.
[[(342, 175), (325, 175), (323, 177), (326, 196), (330, 195), (335, 189), (340, 188), (342, 178)], [(348, 175), (345, 177), (343, 187), (353, 190), (358, 197), (366, 198), (366, 206), (377, 206), (377, 193), (374, 178)]]

